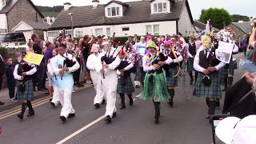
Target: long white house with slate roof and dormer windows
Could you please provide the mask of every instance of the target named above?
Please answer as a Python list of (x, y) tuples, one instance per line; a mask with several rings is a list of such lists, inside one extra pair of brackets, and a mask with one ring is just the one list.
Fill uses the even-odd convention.
[[(71, 6), (64, 9), (46, 31), (46, 37), (58, 37), (63, 29), (66, 34), (83, 37), (85, 34), (117, 37), (126, 35), (195, 34), (193, 18), (187, 0), (142, 0), (138, 2), (110, 1), (92, 6)], [(72, 19), (72, 21), (71, 21)]]

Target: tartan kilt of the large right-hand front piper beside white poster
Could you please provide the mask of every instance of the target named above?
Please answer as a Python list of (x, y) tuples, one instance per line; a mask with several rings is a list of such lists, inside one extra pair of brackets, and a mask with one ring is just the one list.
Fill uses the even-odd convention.
[(198, 79), (195, 84), (195, 96), (200, 98), (222, 98), (221, 87), (219, 86), (218, 72), (210, 74), (210, 86), (204, 86), (202, 78), (205, 74), (198, 73)]

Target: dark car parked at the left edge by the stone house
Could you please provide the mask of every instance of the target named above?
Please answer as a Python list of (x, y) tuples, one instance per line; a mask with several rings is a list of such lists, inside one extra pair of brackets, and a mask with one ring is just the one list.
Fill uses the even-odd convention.
[(0, 34), (0, 42), (26, 42), (22, 32), (12, 32)]

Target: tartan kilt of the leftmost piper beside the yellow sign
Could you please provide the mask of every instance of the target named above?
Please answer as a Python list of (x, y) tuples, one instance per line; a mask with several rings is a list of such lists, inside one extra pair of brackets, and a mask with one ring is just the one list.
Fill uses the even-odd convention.
[[(17, 87), (21, 83), (21, 81), (17, 82)], [(22, 101), (22, 100), (27, 100), (27, 101), (32, 101), (34, 98), (34, 86), (32, 80), (28, 80), (25, 82), (26, 90), (22, 93), (17, 89), (17, 100)]]

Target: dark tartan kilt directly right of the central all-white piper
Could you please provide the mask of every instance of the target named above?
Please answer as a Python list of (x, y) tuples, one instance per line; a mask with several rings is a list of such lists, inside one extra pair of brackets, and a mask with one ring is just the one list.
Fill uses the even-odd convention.
[(134, 85), (130, 76), (118, 78), (118, 94), (132, 94), (134, 91)]

